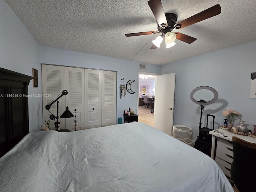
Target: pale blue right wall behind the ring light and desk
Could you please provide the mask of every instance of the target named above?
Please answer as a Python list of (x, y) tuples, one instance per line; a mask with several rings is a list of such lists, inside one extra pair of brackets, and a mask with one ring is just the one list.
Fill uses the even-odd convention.
[(215, 129), (223, 126), (222, 111), (231, 108), (240, 112), (247, 128), (253, 130), (256, 99), (249, 98), (249, 86), (251, 73), (256, 72), (256, 41), (166, 64), (160, 74), (173, 72), (176, 73), (174, 125), (190, 126), (196, 139), (200, 105), (190, 100), (190, 93), (198, 86), (210, 86), (217, 90), (219, 97), (215, 103), (206, 105), (202, 127), (206, 126), (206, 114), (216, 116)]

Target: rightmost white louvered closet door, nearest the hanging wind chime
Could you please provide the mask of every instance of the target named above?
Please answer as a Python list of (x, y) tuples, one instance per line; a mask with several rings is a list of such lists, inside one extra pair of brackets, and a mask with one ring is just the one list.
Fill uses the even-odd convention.
[(116, 124), (116, 72), (102, 71), (102, 126)]

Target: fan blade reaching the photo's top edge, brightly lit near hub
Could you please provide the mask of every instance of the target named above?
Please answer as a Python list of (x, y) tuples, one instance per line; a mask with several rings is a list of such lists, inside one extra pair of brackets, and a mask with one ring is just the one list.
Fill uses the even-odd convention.
[(164, 8), (162, 6), (161, 0), (151, 0), (148, 1), (148, 5), (150, 6), (150, 9), (152, 10), (156, 21), (158, 22), (158, 25), (162, 28), (166, 28), (168, 26), (166, 16), (164, 13)]

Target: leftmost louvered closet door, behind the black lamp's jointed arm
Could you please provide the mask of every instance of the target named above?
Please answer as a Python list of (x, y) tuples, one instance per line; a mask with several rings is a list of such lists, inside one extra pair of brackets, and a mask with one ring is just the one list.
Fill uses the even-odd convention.
[[(43, 123), (50, 120), (49, 116), (57, 115), (57, 102), (52, 104), (50, 110), (46, 110), (45, 106), (54, 100), (62, 91), (65, 90), (65, 68), (62, 66), (42, 65), (42, 94), (43, 97)], [(50, 96), (50, 97), (49, 97)], [(65, 110), (65, 96), (59, 100), (59, 115)], [(55, 119), (56, 120), (56, 119)], [(59, 118), (60, 128), (65, 128), (65, 119)], [(54, 120), (50, 120), (50, 128), (54, 130)]]

